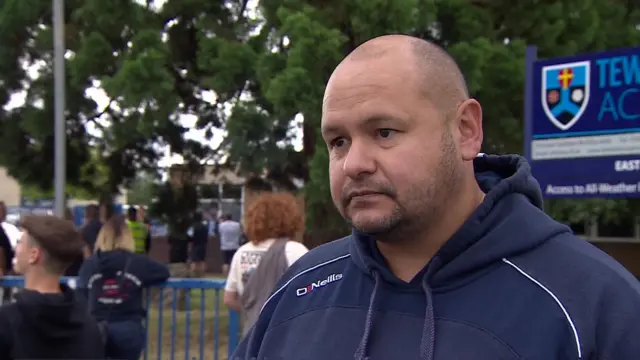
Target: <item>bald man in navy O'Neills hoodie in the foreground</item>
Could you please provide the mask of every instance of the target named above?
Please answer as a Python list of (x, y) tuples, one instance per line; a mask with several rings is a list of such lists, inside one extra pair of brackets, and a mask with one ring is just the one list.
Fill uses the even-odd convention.
[(353, 227), (293, 264), (233, 359), (640, 359), (640, 286), (541, 209), (519, 156), (478, 156), (455, 62), (405, 36), (335, 69), (331, 194)]

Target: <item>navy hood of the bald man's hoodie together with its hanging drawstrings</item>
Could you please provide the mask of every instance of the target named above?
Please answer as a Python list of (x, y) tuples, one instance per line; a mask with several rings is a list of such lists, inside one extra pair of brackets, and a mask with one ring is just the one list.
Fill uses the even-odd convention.
[[(542, 214), (542, 193), (524, 158), (479, 155), (474, 160), (474, 168), (476, 180), (486, 194), (484, 201), (410, 283), (401, 281), (391, 272), (373, 237), (354, 231), (351, 258), (375, 281), (365, 334), (355, 353), (356, 360), (367, 358), (373, 309), (382, 281), (424, 292), (426, 309), (420, 354), (421, 360), (433, 360), (433, 292), (463, 285), (502, 259), (531, 250), (553, 236), (569, 231), (546, 216), (536, 217)], [(535, 226), (532, 226), (534, 222)], [(523, 231), (527, 236), (521, 236)]]

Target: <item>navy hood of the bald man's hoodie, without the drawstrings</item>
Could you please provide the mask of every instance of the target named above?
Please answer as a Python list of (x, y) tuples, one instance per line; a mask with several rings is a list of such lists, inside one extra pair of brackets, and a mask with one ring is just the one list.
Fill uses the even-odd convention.
[[(523, 157), (481, 155), (475, 159), (474, 168), (476, 181), (486, 194), (484, 201), (411, 284), (420, 284), (428, 272), (428, 283), (434, 290), (448, 287), (465, 274), (568, 231), (553, 221), (532, 227), (523, 216), (533, 208), (542, 209), (543, 204), (540, 186)], [(515, 236), (514, 229), (525, 227), (529, 236)], [(375, 270), (391, 283), (406, 284), (391, 274), (372, 236), (354, 230), (353, 237), (351, 254), (358, 267), (366, 273)]]

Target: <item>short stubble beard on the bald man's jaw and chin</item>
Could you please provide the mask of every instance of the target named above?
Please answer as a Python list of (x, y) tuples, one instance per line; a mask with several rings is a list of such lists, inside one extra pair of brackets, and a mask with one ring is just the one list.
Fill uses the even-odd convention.
[(447, 198), (452, 197), (460, 184), (460, 170), (456, 165), (458, 154), (450, 132), (443, 134), (441, 143), (442, 153), (438, 166), (432, 172), (432, 179), (411, 187), (403, 203), (393, 199), (394, 209), (376, 226), (359, 228), (347, 218), (349, 224), (381, 242), (411, 241), (420, 234), (428, 233), (428, 229), (438, 221), (438, 214), (446, 209)]

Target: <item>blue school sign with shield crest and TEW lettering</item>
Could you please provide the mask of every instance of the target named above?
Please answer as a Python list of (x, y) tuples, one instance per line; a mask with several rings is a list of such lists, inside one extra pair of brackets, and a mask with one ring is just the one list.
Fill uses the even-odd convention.
[(525, 155), (545, 197), (640, 197), (640, 47), (536, 60)]

